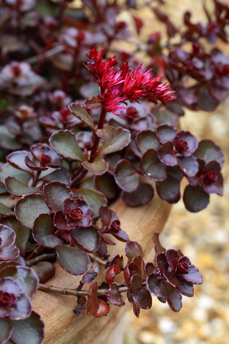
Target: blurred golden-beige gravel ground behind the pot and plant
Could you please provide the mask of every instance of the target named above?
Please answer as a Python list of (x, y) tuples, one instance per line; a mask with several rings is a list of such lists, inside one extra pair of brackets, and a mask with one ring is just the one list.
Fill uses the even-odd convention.
[[(227, 1), (225, 1), (227, 2)], [(202, 1), (167, 0), (165, 9), (175, 23), (180, 23), (184, 10), (191, 7), (198, 21), (203, 17)], [(142, 40), (152, 28), (151, 14), (141, 10), (146, 20)], [(148, 21), (147, 21), (148, 18)], [(151, 26), (150, 26), (151, 25)], [(221, 44), (221, 43), (220, 43)], [(221, 44), (221, 49), (229, 51)], [(194, 286), (194, 298), (182, 298), (179, 313), (153, 297), (149, 311), (141, 310), (139, 319), (132, 311), (126, 316), (124, 344), (227, 344), (229, 343), (229, 101), (213, 113), (186, 110), (181, 127), (193, 132), (198, 140), (218, 142), (225, 154), (224, 196), (211, 195), (209, 206), (192, 214), (183, 201), (172, 208), (161, 241), (164, 247), (181, 249), (203, 275), (204, 282)], [(184, 189), (185, 184), (182, 185)], [(152, 257), (153, 258), (153, 257)]]

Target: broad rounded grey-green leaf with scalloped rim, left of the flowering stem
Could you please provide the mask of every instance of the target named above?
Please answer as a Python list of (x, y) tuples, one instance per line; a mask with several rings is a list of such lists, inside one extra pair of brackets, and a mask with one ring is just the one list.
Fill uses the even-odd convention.
[(69, 130), (58, 130), (49, 138), (50, 146), (60, 155), (72, 160), (83, 160), (76, 136)]

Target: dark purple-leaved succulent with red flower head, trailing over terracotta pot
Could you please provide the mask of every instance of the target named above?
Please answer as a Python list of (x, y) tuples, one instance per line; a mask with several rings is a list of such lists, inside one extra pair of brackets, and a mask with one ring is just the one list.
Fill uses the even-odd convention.
[[(136, 57), (140, 41), (131, 53), (117, 45), (131, 36), (116, 20), (120, 12), (132, 11), (138, 35), (144, 24), (135, 1), (1, 3), (1, 344), (43, 342), (44, 324), (30, 300), (37, 289), (75, 295), (76, 316), (87, 308), (95, 317), (107, 315), (110, 303), (124, 306), (127, 292), (138, 317), (140, 308), (151, 308), (151, 294), (178, 312), (182, 295), (192, 297), (193, 284), (202, 283), (188, 257), (160, 244), (159, 233), (155, 259), (145, 264), (141, 246), (108, 206), (118, 197), (131, 207), (148, 203), (154, 190), (142, 175), (169, 203), (180, 200), (185, 177), (191, 212), (204, 209), (209, 194), (222, 195), (220, 147), (178, 126), (183, 108), (212, 111), (229, 95), (229, 58), (206, 47), (227, 42), (229, 7), (213, 2), (214, 17), (204, 8), (207, 24), (193, 24), (186, 12), (180, 30), (158, 3), (147, 3), (168, 39), (152, 32), (144, 68)], [(125, 243), (127, 261), (119, 252), (109, 256), (112, 235)], [(55, 275), (55, 260), (83, 275), (76, 289), (44, 284)], [(100, 268), (106, 278), (98, 284)]]

